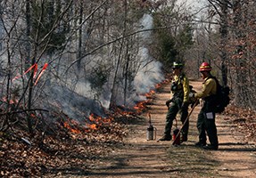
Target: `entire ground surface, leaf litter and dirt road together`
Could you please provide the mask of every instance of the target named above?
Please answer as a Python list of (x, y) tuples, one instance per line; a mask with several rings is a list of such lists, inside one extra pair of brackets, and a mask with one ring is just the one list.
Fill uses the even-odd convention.
[[(202, 81), (191, 80), (190, 85), (199, 91)], [(74, 134), (57, 120), (57, 125), (49, 125), (55, 136), (38, 132), (35, 138), (27, 137), (23, 127), (0, 132), (0, 177), (256, 177), (255, 112), (230, 104), (216, 117), (219, 150), (203, 150), (194, 146), (198, 105), (189, 118), (188, 141), (172, 145), (156, 141), (163, 134), (169, 97), (169, 84), (161, 85), (147, 97), (144, 112), (116, 117), (92, 133)], [(153, 141), (146, 139), (149, 113), (157, 129)]]

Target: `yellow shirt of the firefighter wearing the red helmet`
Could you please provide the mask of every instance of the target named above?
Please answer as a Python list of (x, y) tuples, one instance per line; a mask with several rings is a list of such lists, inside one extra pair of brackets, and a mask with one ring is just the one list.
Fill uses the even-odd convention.
[(202, 83), (202, 91), (198, 93), (194, 93), (194, 98), (206, 98), (217, 92), (217, 84), (214, 78), (206, 77)]

